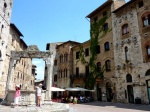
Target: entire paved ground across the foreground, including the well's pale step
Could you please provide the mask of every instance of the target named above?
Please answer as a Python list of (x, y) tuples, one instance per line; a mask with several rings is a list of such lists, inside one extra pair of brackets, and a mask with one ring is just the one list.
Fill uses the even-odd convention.
[[(66, 109), (67, 106), (69, 106), (70, 109)], [(42, 105), (42, 107), (19, 106), (16, 108), (11, 108), (10, 106), (0, 105), (0, 112), (150, 112), (150, 105), (98, 101), (75, 105), (71, 103), (56, 103), (54, 105)]]

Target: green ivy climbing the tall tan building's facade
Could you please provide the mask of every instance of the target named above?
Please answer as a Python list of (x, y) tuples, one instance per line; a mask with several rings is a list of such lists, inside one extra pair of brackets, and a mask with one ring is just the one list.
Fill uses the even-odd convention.
[(80, 45), (80, 52), (79, 52), (79, 60), (82, 64), (85, 64), (89, 66), (90, 73), (85, 78), (85, 86), (89, 89), (94, 89), (94, 85), (97, 78), (104, 78), (104, 72), (105, 72), (105, 65), (100, 68), (97, 67), (95, 64), (95, 60), (97, 59), (97, 46), (99, 45), (99, 39), (104, 37), (107, 32), (110, 31), (110, 29), (104, 30), (104, 24), (106, 20), (108, 19), (108, 16), (103, 17), (97, 22), (94, 22), (91, 24), (90, 28), (90, 58), (89, 60), (85, 60), (85, 52), (83, 49), (83, 46)]

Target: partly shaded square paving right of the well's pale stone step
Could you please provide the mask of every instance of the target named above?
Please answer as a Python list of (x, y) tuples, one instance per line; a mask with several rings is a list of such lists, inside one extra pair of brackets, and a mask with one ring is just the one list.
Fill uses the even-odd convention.
[(150, 112), (150, 105), (91, 102), (69, 104), (70, 112)]

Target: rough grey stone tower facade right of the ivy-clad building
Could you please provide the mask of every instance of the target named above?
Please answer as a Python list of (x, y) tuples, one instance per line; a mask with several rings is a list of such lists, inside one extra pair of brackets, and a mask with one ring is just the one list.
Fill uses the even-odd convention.
[[(143, 45), (141, 44), (142, 33), (139, 26), (138, 3), (132, 2), (126, 7), (112, 13), (113, 42), (114, 42), (114, 61), (115, 61), (115, 80), (117, 88), (117, 101), (130, 102), (127, 86), (133, 88), (133, 99), (141, 98), (142, 103), (147, 102), (147, 90), (145, 84), (145, 73), (149, 69), (149, 63), (143, 63)], [(128, 24), (129, 32), (122, 33), (123, 25)], [(127, 58), (125, 47), (128, 48)], [(132, 76), (132, 82), (127, 82), (127, 74)], [(125, 95), (126, 94), (126, 95)], [(132, 103), (134, 103), (132, 102)]]

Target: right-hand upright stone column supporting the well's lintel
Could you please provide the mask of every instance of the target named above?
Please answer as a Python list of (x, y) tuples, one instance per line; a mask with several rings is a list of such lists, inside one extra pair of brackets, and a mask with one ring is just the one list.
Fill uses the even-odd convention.
[(46, 100), (51, 101), (51, 87), (52, 87), (52, 73), (53, 73), (53, 60), (50, 58), (44, 59), (47, 65), (47, 82), (46, 82)]

